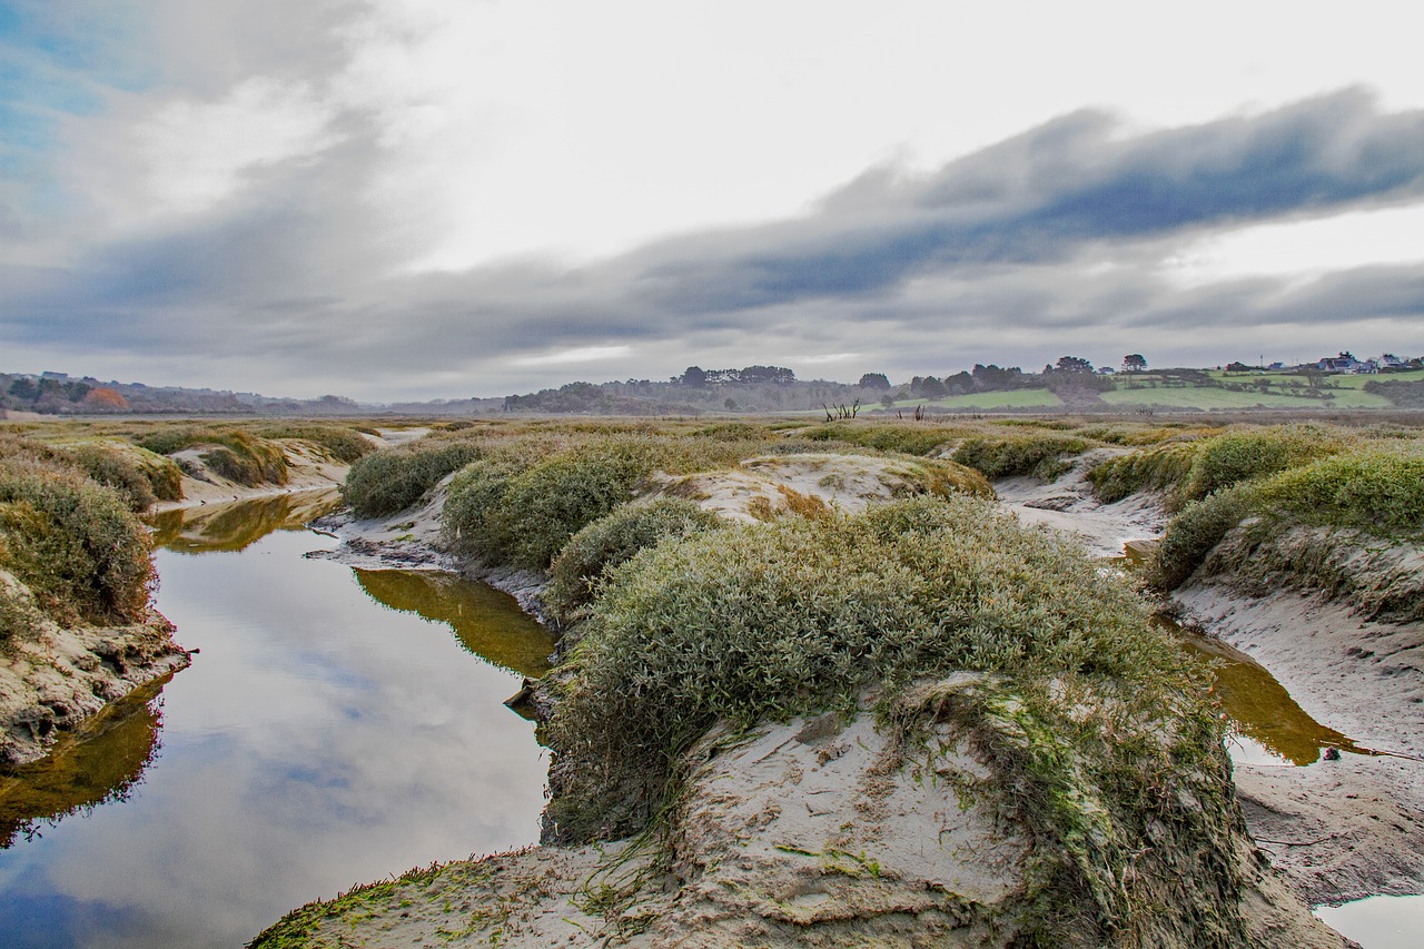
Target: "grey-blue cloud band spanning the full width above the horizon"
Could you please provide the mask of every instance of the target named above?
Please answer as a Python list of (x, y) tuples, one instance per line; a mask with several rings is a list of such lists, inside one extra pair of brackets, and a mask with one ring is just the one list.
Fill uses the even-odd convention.
[(927, 341), (1004, 361), (994, 339), (1022, 352), (1024, 338), (1058, 346), (1077, 333), (1139, 349), (1192, 326), (1347, 332), (1383, 318), (1417, 331), (1424, 315), (1420, 266), (1300, 286), (1182, 288), (1159, 275), (1176, 249), (1229, 228), (1424, 199), (1424, 113), (1386, 114), (1357, 91), (1136, 135), (1077, 113), (934, 174), (870, 170), (795, 219), (682, 235), (584, 268), (419, 275), (394, 272), (419, 221), (392, 231), (357, 199), (379, 148), (359, 117), (343, 123), (342, 144), (266, 170), (221, 211), (94, 245), (47, 278), (0, 274), (0, 332), (251, 359), (268, 373), (319, 363), (379, 388), (419, 372), (514, 378), (520, 356), (617, 343), (644, 362), (609, 376), (659, 375), (648, 353), (685, 365), (679, 353), (738, 341), (755, 361), (772, 336), (803, 352), (873, 346), (887, 365), (914, 366)]

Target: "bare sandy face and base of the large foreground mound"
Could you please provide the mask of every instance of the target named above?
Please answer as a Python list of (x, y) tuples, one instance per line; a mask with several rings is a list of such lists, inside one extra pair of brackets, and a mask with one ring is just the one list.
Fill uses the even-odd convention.
[[(665, 845), (541, 846), (416, 871), (316, 903), (262, 945), (1010, 946), (1032, 845), (964, 788), (948, 730), (906, 754), (874, 717), (718, 731), (689, 754)], [(1341, 946), (1236, 851), (1250, 945)], [(288, 942), (290, 940), (290, 942)], [(1163, 946), (1198, 945), (1180, 932)]]

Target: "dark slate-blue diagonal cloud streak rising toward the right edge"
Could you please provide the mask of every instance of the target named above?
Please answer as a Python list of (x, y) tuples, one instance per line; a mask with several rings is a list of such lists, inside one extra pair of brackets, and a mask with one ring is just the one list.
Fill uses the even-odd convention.
[[(795, 222), (655, 249), (679, 312), (884, 292), (924, 272), (1062, 261), (1128, 242), (1424, 195), (1424, 114), (1363, 93), (1138, 138), (1081, 113), (921, 181), (876, 172)], [(678, 249), (689, 251), (678, 255)]]

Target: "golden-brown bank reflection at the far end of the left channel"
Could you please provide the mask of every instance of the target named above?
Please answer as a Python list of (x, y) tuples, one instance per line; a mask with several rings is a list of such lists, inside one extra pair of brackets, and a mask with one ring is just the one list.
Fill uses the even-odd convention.
[(340, 506), (340, 492), (333, 487), (179, 507), (152, 514), (148, 523), (155, 547), (177, 553), (236, 551), (275, 530), (302, 530)]

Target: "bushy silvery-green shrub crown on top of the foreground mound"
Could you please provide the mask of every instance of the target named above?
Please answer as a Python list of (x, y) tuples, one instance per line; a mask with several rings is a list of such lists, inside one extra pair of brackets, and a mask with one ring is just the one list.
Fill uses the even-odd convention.
[(541, 734), (565, 839), (637, 829), (718, 718), (844, 708), (866, 685), (956, 670), (1153, 695), (1186, 675), (1126, 581), (965, 496), (661, 543), (608, 574), (581, 633)]

